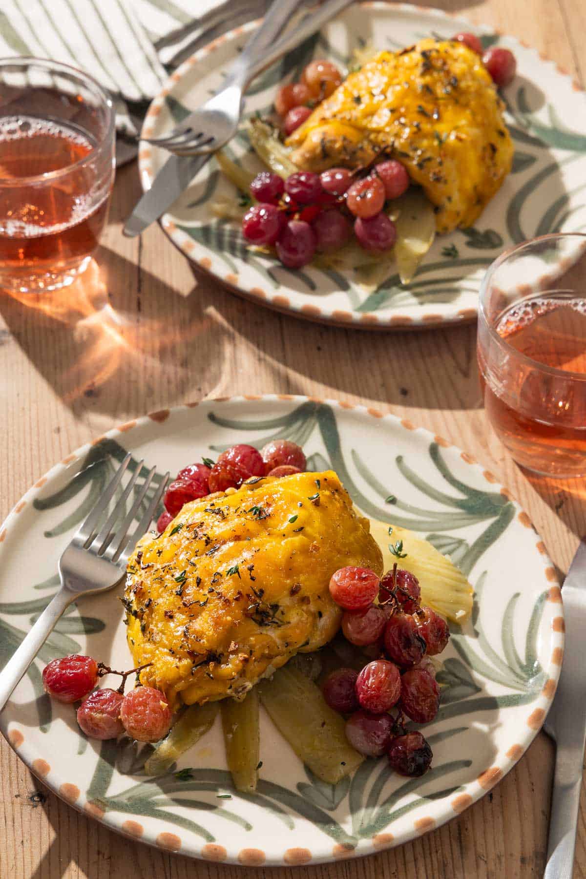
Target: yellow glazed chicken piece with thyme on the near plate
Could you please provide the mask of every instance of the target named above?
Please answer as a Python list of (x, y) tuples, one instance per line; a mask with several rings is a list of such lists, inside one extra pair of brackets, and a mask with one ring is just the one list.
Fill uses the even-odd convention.
[(242, 698), (299, 650), (336, 633), (338, 568), (382, 573), (367, 519), (336, 474), (260, 477), (184, 505), (127, 567), (127, 638), (141, 683), (172, 707)]

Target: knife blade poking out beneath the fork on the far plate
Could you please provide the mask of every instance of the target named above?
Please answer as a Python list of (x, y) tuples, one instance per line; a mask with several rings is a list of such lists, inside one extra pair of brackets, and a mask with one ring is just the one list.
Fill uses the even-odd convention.
[(124, 234), (129, 238), (140, 235), (153, 221), (164, 214), (211, 157), (211, 153), (205, 156), (170, 156), (156, 175), (150, 189), (143, 193), (141, 200), (128, 217), (122, 229)]

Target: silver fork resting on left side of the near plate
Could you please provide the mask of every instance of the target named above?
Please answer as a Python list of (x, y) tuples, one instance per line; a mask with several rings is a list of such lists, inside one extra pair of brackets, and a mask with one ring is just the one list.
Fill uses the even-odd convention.
[[(134, 489), (138, 476), (141, 472), (140, 461), (133, 476), (123, 490), (118, 502), (104, 524), (98, 531), (98, 526), (128, 467), (132, 455), (127, 454), (119, 466), (112, 480), (108, 484), (105, 493), (93, 507), (90, 515), (83, 525), (74, 534), (69, 546), (65, 548), (59, 560), (59, 578), (61, 589), (54, 595), (39, 619), (33, 625), (24, 641), (18, 647), (7, 665), (0, 672), (0, 711), (9, 700), (12, 691), (18, 681), (23, 677), (27, 668), (33, 662), (47, 637), (54, 629), (55, 623), (61, 614), (69, 607), (72, 601), (80, 595), (95, 594), (112, 589), (119, 583), (127, 566), (128, 556), (134, 549), (136, 541), (145, 533), (150, 525), (156, 507), (163, 497), (169, 481), (169, 473), (163, 476), (159, 487), (153, 497), (148, 501), (147, 508), (142, 514), (138, 526), (133, 534), (128, 536), (128, 530), (137, 514), (140, 513), (141, 505), (147, 497), (148, 489), (156, 475), (156, 468), (148, 472), (144, 483), (134, 499), (134, 504), (127, 511), (126, 502), (130, 492)], [(121, 519), (121, 521), (119, 521)], [(116, 530), (112, 530), (118, 524)]]

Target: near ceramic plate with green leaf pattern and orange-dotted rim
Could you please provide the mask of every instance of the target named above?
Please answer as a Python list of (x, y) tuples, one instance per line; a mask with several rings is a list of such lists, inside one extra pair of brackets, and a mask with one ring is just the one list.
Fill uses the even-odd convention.
[(301, 443), (309, 467), (336, 469), (362, 511), (416, 529), (474, 585), (474, 616), (452, 626), (442, 654), (442, 706), (426, 728), (430, 772), (404, 779), (386, 759), (369, 759), (352, 778), (324, 784), (262, 716), (255, 795), (232, 788), (219, 719), (174, 772), (148, 778), (149, 745), (87, 740), (73, 708), (42, 694), (40, 671), (53, 657), (80, 651), (131, 667), (116, 591), (62, 618), (0, 723), (56, 793), (152, 845), (241, 864), (370, 854), (443, 824), (499, 781), (543, 723), (560, 672), (561, 592), (544, 545), (495, 477), (445, 440), (376, 410), (276, 396), (165, 410), (112, 430), (50, 470), (0, 530), (0, 655), (6, 662), (55, 592), (61, 551), (126, 450), (134, 465), (144, 457), (175, 473), (234, 442), (271, 437)]

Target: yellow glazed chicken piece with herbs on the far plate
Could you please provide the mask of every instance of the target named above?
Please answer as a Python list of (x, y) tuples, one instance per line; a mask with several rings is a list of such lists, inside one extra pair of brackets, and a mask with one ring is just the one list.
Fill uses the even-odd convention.
[(478, 54), (421, 40), (349, 74), (288, 138), (306, 171), (399, 159), (436, 206), (438, 232), (471, 226), (510, 172), (503, 101)]

